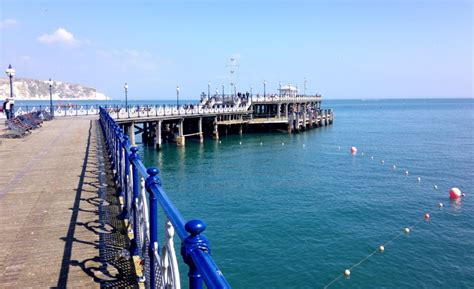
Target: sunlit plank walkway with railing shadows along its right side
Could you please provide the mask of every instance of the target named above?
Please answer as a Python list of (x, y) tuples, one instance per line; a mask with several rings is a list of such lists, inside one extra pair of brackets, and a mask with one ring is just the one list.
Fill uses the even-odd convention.
[(0, 133), (0, 288), (134, 286), (103, 146), (96, 117)]

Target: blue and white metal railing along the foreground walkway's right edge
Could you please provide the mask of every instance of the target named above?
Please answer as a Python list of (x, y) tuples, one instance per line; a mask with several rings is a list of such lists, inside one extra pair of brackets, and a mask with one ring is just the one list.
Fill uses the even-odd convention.
[[(189, 288), (201, 289), (203, 282), (207, 288), (231, 288), (211, 257), (209, 242), (201, 235), (206, 228), (204, 222), (185, 222), (163, 190), (158, 168), (146, 169), (138, 148), (130, 146), (128, 136), (110, 114), (102, 107), (99, 114), (122, 204), (120, 217), (128, 226), (139, 282), (146, 288), (181, 288), (173, 245), (176, 230), (182, 242), (181, 255), (189, 267)], [(161, 252), (158, 207), (167, 218)]]

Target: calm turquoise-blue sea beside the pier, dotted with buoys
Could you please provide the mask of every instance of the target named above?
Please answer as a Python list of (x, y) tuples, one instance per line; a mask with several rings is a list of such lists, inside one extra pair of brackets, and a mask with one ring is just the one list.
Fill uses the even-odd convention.
[(329, 288), (474, 288), (474, 100), (323, 106), (331, 126), (143, 147), (144, 163), (206, 222), (233, 288), (323, 288), (397, 236)]

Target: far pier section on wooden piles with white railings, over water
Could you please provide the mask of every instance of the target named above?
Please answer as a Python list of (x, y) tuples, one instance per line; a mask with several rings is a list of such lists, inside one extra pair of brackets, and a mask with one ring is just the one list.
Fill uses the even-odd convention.
[[(230, 99), (230, 101), (229, 101)], [(160, 149), (163, 142), (184, 146), (186, 139), (203, 142), (231, 133), (288, 132), (333, 123), (332, 109), (321, 108), (321, 96), (222, 97), (193, 106), (109, 107), (107, 111), (128, 134), (132, 144), (141, 134), (144, 143)]]

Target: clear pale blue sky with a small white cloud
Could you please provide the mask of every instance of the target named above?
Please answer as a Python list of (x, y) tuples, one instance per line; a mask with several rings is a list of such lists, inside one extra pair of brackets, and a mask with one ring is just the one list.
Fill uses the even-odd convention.
[(197, 100), (208, 82), (262, 94), (305, 80), (324, 99), (474, 97), (469, 0), (0, 3), (0, 67), (113, 99), (125, 82), (129, 99), (179, 86)]

